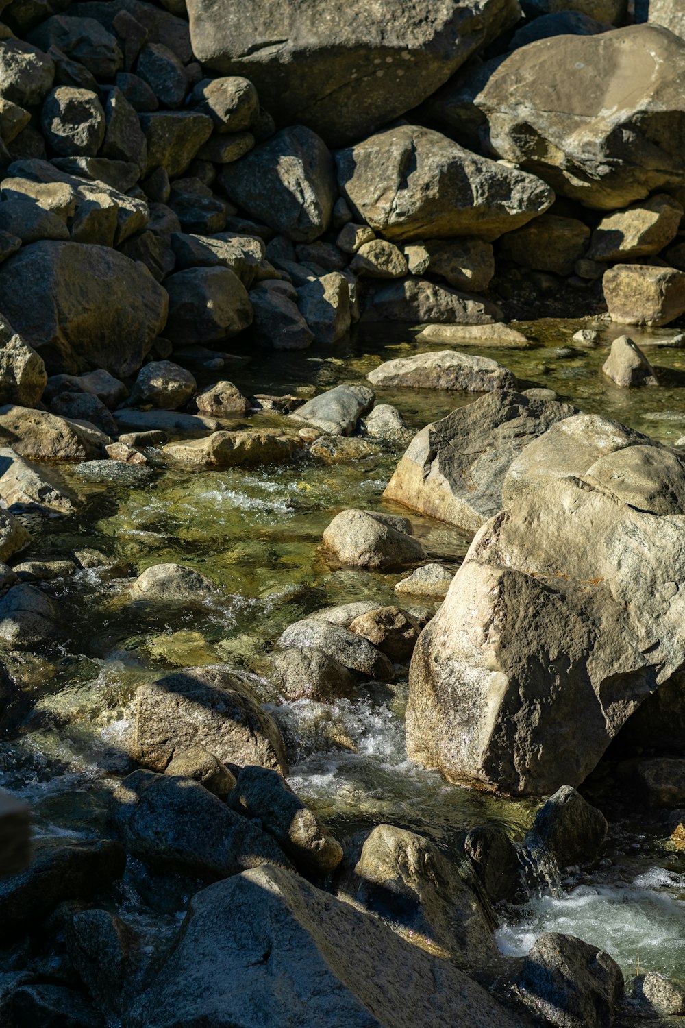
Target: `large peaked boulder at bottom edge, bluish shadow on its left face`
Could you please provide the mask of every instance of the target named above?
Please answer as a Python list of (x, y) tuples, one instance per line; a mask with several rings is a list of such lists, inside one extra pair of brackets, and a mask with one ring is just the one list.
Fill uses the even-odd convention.
[(513, 1028), (515, 1019), (449, 961), (302, 878), (262, 868), (193, 896), (177, 946), (126, 1022)]

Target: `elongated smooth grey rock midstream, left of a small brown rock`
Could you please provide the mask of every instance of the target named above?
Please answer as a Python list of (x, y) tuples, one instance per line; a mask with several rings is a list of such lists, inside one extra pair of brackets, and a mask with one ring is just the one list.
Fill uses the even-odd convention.
[(361, 635), (324, 619), (305, 618), (290, 625), (278, 639), (279, 647), (311, 647), (367, 680), (392, 682), (394, 670), (385, 654)]

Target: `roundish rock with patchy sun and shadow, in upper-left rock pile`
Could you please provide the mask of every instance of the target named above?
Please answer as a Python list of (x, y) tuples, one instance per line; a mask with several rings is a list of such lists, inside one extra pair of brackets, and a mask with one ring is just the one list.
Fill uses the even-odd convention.
[(66, 157), (94, 157), (105, 140), (105, 112), (89, 89), (59, 85), (48, 94), (40, 120), (52, 149)]

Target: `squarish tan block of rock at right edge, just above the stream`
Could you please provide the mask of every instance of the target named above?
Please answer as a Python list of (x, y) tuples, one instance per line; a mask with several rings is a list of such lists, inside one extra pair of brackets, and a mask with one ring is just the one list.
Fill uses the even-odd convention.
[(618, 264), (602, 288), (611, 320), (623, 325), (668, 325), (685, 313), (685, 274), (671, 267)]

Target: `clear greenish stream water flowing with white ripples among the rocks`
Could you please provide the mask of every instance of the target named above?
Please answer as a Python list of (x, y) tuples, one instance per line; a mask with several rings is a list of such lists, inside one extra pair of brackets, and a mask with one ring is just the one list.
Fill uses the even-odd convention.
[[(468, 352), (500, 361), (524, 388), (555, 389), (583, 410), (660, 441), (675, 443), (685, 435), (685, 350), (663, 345), (674, 331), (636, 336), (662, 384), (621, 391), (600, 373), (606, 346), (591, 351), (571, 343), (579, 323), (517, 327), (536, 348)], [(606, 331), (605, 341), (611, 333)], [(260, 354), (230, 377), (248, 394), (307, 396), (364, 381), (380, 361), (416, 351), (411, 334), (390, 338), (376, 330), (337, 348)], [(377, 391), (377, 401), (395, 404), (415, 429), (473, 399)], [(257, 428), (282, 420), (259, 413), (237, 424)], [(31, 558), (70, 556), (88, 547), (104, 553), (110, 566), (42, 585), (60, 601), (62, 634), (45, 652), (12, 656), (12, 674), (33, 709), (17, 737), (0, 740), (0, 785), (30, 800), (38, 834), (105, 831), (109, 794), (129, 769), (125, 743), (139, 683), (176, 667), (224, 663), (251, 675), (289, 742), (293, 786), (339, 833), (389, 821), (429, 834), (446, 848), (485, 822), (503, 825), (513, 838), (524, 835), (535, 809), (530, 801), (449, 785), (407, 759), (406, 676), (335, 704), (284, 703), (259, 676), (260, 661), (298, 618), (349, 600), (393, 602), (397, 576), (332, 570), (317, 548), (339, 510), (388, 509), (382, 492), (402, 451), (401, 445), (379, 442), (369, 456), (331, 465), (307, 456), (258, 470), (159, 468), (149, 484), (132, 488), (84, 485), (65, 470), (85, 508), (76, 517), (29, 519), (40, 540)], [(412, 521), (430, 555), (456, 570), (468, 540), (428, 518), (412, 515)], [(163, 561), (207, 575), (221, 587), (218, 598), (182, 609), (131, 602), (131, 577)], [(561, 894), (543, 894), (503, 913), (504, 952), (523, 954), (540, 931), (556, 929), (606, 948), (626, 972), (635, 970), (639, 950), (645, 969), (685, 977), (685, 854), (668, 841), (644, 839), (624, 827), (620, 832), (592, 878), (569, 880)]]

